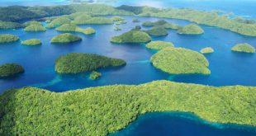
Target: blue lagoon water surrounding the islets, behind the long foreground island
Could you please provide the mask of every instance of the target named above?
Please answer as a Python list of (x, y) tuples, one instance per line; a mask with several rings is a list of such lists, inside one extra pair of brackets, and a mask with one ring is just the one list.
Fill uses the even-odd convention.
[[(96, 87), (112, 84), (140, 84), (154, 80), (171, 80), (175, 82), (192, 82), (212, 86), (256, 85), (256, 55), (231, 52), (233, 45), (247, 42), (256, 46), (256, 38), (239, 35), (216, 27), (202, 26), (204, 35), (178, 35), (175, 30), (168, 30), (169, 35), (153, 37), (154, 40), (173, 42), (176, 47), (184, 47), (199, 51), (204, 47), (212, 47), (214, 54), (207, 54), (211, 75), (169, 75), (152, 66), (150, 57), (155, 51), (146, 49), (145, 45), (115, 45), (110, 39), (121, 35), (140, 23), (131, 22), (133, 16), (125, 16), (127, 24), (121, 25), (121, 31), (113, 30), (114, 25), (91, 26), (97, 30), (96, 35), (83, 35), (82, 42), (71, 45), (51, 45), (50, 40), (60, 34), (54, 29), (46, 32), (26, 32), (19, 30), (1, 30), (0, 34), (20, 36), (21, 40), (39, 38), (43, 45), (27, 47), (20, 42), (0, 46), (0, 63), (21, 63), (26, 69), (17, 77), (0, 79), (1, 92), (12, 87), (42, 87), (50, 91), (68, 91), (84, 87)], [(157, 21), (158, 18), (138, 17), (142, 22)], [(167, 21), (186, 25), (188, 21), (166, 19)], [(88, 26), (82, 26), (88, 27)], [(143, 28), (149, 29), (149, 28)], [(121, 68), (100, 69), (102, 77), (97, 81), (88, 79), (88, 73), (78, 75), (59, 75), (55, 73), (55, 59), (59, 55), (83, 52), (102, 54), (108, 57), (125, 59), (127, 65)]]

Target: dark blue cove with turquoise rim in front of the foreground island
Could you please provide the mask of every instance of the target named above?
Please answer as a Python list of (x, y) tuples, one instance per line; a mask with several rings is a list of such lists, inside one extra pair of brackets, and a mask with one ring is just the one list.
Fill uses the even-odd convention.
[(255, 136), (256, 129), (237, 124), (216, 124), (179, 112), (155, 112), (140, 117), (110, 136)]

